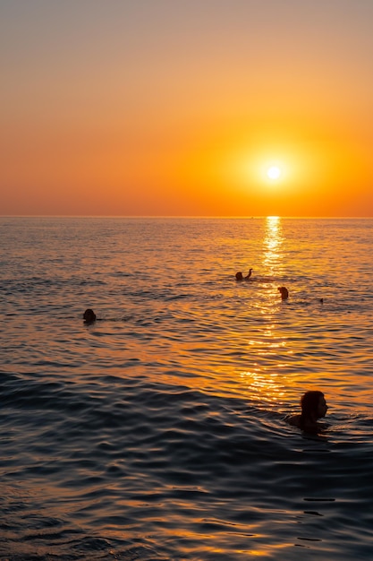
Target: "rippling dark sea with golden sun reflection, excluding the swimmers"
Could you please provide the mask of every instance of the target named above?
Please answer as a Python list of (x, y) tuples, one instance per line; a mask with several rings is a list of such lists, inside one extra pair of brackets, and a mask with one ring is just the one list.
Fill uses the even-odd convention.
[(373, 559), (373, 220), (0, 235), (2, 561)]

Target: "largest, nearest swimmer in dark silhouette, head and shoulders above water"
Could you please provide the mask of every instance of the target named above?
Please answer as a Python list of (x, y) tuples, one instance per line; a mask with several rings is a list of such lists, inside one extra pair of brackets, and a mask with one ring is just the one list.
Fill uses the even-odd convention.
[(327, 409), (324, 393), (311, 390), (301, 397), (301, 414), (291, 415), (286, 418), (286, 421), (293, 427), (301, 428), (305, 432), (315, 433), (322, 428), (318, 419), (326, 416)]

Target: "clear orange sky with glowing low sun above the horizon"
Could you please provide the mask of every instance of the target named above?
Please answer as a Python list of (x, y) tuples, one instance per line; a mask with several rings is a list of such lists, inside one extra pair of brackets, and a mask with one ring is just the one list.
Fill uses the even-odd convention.
[(0, 0), (0, 214), (373, 216), (372, 25), (372, 0)]

